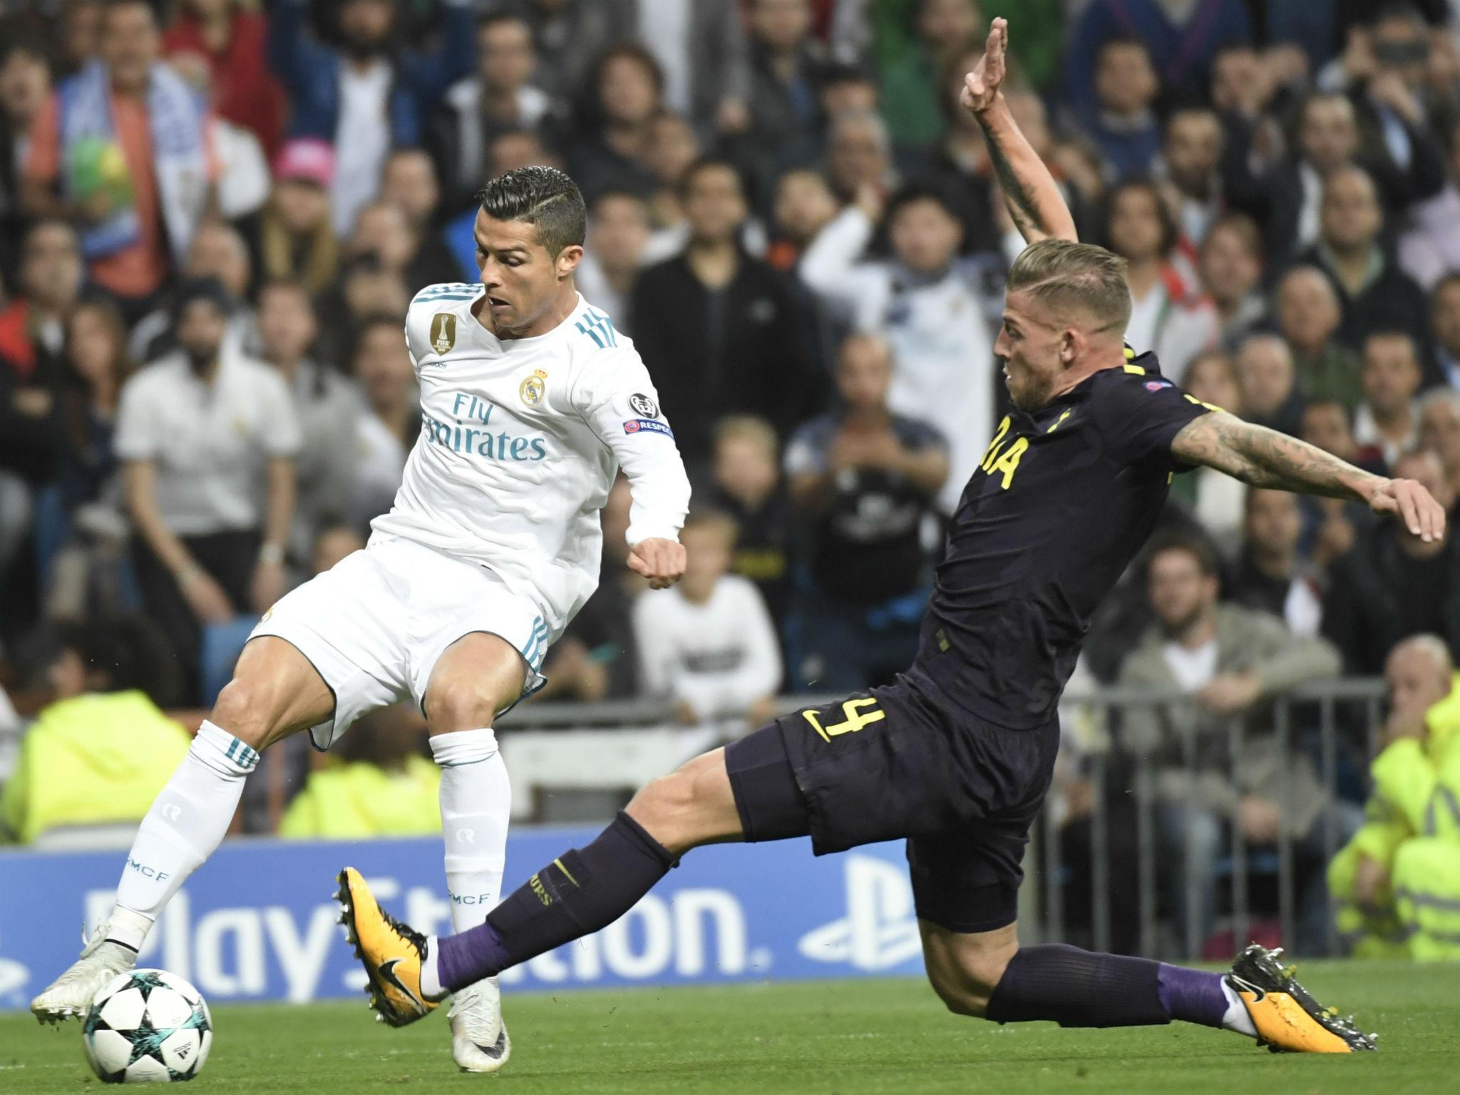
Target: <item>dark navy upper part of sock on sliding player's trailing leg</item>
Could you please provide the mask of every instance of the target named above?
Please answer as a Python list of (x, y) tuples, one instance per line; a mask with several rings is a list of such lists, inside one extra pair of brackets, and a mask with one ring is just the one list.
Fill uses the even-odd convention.
[(1161, 964), (1080, 950), (1063, 943), (1021, 948), (993, 994), (997, 1023), (1053, 1019), (1060, 1026), (1152, 1026), (1171, 1022)]

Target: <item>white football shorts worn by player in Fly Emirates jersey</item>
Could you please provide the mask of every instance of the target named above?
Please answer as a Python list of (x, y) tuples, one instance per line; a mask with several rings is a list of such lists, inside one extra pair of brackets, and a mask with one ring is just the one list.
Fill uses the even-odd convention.
[(334, 717), (310, 737), (317, 749), (328, 749), (368, 711), (406, 698), (422, 707), (441, 654), (477, 631), (523, 656), (520, 698), (548, 683), (539, 670), (553, 637), (533, 602), (485, 566), (410, 540), (387, 540), (286, 593), (248, 638), (288, 641), (324, 677)]

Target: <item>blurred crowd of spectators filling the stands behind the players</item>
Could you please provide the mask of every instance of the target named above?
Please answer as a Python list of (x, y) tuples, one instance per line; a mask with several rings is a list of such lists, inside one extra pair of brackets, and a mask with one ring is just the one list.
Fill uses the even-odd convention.
[[(77, 626), (147, 631), (166, 672), (126, 688), (206, 708), (258, 615), (361, 546), (420, 428), (407, 304), (476, 280), (473, 194), (529, 164), (583, 188), (580, 289), (632, 336), (702, 510), (685, 584), (641, 596), (615, 491), (600, 591), (545, 698), (648, 695), (729, 727), (777, 694), (889, 679), (1006, 399), (991, 347), (1022, 244), (958, 108), (997, 13), (1015, 117), (1082, 238), (1129, 263), (1127, 342), (1204, 402), (1453, 504), (1460, 4), (1013, 7), (0, 3), (16, 708), (72, 702), (54, 666)], [(1162, 799), (1213, 858), (1232, 819), (1275, 837), (1275, 689), (1377, 675), (1422, 632), (1460, 654), (1460, 548), (1206, 469), (1162, 524), (1080, 673), (1191, 692), (1213, 758), (1221, 717), (1251, 715), (1245, 775), (1199, 794), (1172, 769)], [(0, 702), (0, 780), (19, 721)], [(1187, 733), (1115, 730), (1158, 762)], [(1327, 812), (1355, 828), (1311, 791), (1296, 840)]]

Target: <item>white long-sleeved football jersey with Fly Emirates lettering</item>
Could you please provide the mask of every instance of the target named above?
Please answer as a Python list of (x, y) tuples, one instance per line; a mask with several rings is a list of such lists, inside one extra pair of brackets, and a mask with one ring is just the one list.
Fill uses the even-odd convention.
[(599, 510), (622, 466), (631, 545), (675, 540), (689, 479), (634, 343), (578, 296), (558, 327), (499, 340), (472, 314), (483, 288), (432, 285), (406, 314), (420, 437), (371, 540), (477, 562), (558, 634), (599, 585)]

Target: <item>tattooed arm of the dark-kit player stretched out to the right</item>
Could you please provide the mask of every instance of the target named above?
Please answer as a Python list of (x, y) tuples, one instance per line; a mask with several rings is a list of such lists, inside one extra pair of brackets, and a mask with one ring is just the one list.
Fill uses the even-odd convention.
[(1384, 479), (1276, 429), (1212, 412), (1193, 419), (1171, 439), (1171, 453), (1187, 464), (1206, 464), (1269, 491), (1350, 498), (1377, 514), (1399, 514), (1425, 542), (1445, 533), (1445, 511), (1413, 479)]

